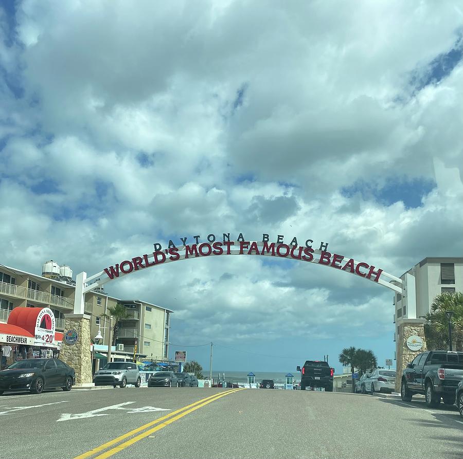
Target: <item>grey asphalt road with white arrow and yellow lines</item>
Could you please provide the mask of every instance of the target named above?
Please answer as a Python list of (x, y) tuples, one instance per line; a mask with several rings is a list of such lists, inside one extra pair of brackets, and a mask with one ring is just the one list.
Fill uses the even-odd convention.
[(463, 419), (360, 394), (73, 389), (0, 397), (0, 445), (2, 459), (461, 459)]

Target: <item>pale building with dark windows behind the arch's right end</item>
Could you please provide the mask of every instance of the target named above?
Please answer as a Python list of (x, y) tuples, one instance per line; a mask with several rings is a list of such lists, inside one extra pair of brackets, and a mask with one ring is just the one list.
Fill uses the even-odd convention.
[[(411, 274), (406, 281), (406, 274)], [(407, 290), (407, 297), (394, 295), (394, 341), (399, 337), (404, 321), (424, 322), (424, 316), (431, 310), (434, 298), (443, 292), (463, 291), (463, 258), (428, 257), (401, 276)], [(410, 282), (412, 280), (413, 282)], [(407, 285), (407, 282), (409, 285)], [(399, 342), (396, 341), (396, 356)]]

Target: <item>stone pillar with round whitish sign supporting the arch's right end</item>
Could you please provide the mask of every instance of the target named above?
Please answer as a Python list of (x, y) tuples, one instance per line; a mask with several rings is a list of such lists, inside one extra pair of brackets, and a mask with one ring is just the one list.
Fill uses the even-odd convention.
[[(400, 393), (402, 372), (419, 353), (427, 350), (426, 340), (424, 339), (424, 319), (404, 320), (399, 325), (399, 336), (397, 340), (397, 360), (396, 360), (396, 392)], [(407, 346), (407, 339), (413, 335), (419, 336), (423, 340), (423, 347), (419, 351), (412, 351)]]

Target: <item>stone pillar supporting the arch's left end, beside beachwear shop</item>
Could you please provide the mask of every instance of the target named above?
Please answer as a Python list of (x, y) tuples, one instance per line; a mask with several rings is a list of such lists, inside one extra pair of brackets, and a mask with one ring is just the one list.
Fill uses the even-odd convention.
[(60, 359), (76, 371), (76, 385), (92, 384), (92, 354), (90, 350), (90, 316), (84, 314), (65, 314), (64, 333), (76, 330), (76, 344), (67, 344), (63, 339)]

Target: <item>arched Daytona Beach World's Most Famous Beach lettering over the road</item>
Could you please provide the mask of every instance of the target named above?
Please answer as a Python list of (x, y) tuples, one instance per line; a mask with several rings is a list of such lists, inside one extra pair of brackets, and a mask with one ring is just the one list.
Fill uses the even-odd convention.
[[(245, 241), (242, 233), (239, 234), (237, 241), (230, 241), (229, 233), (223, 233), (223, 241), (216, 241), (214, 234), (209, 234), (207, 242), (202, 243), (199, 242), (201, 236), (193, 236), (193, 238), (194, 244), (181, 247), (177, 247), (172, 240), (169, 241), (168, 247), (165, 249), (161, 244), (155, 243), (154, 252), (135, 256), (130, 260), (123, 260), (115, 266), (104, 268), (104, 272), (113, 280), (133, 271), (163, 263), (217, 255), (264, 255), (289, 258), (330, 266), (374, 282), (380, 280), (383, 272), (382, 269), (368, 263), (354, 261), (352, 258), (347, 259), (343, 255), (328, 252), (328, 243), (324, 242), (320, 244), (316, 253), (317, 257), (315, 257), (311, 239), (307, 239), (304, 245), (299, 246), (296, 237), (293, 237), (291, 242), (284, 243), (284, 236), (281, 234), (277, 236), (276, 242), (270, 242), (269, 235), (265, 233), (262, 235), (262, 242)], [(181, 237), (180, 241), (186, 244), (187, 237)], [(180, 252), (184, 253), (181, 254)]]

